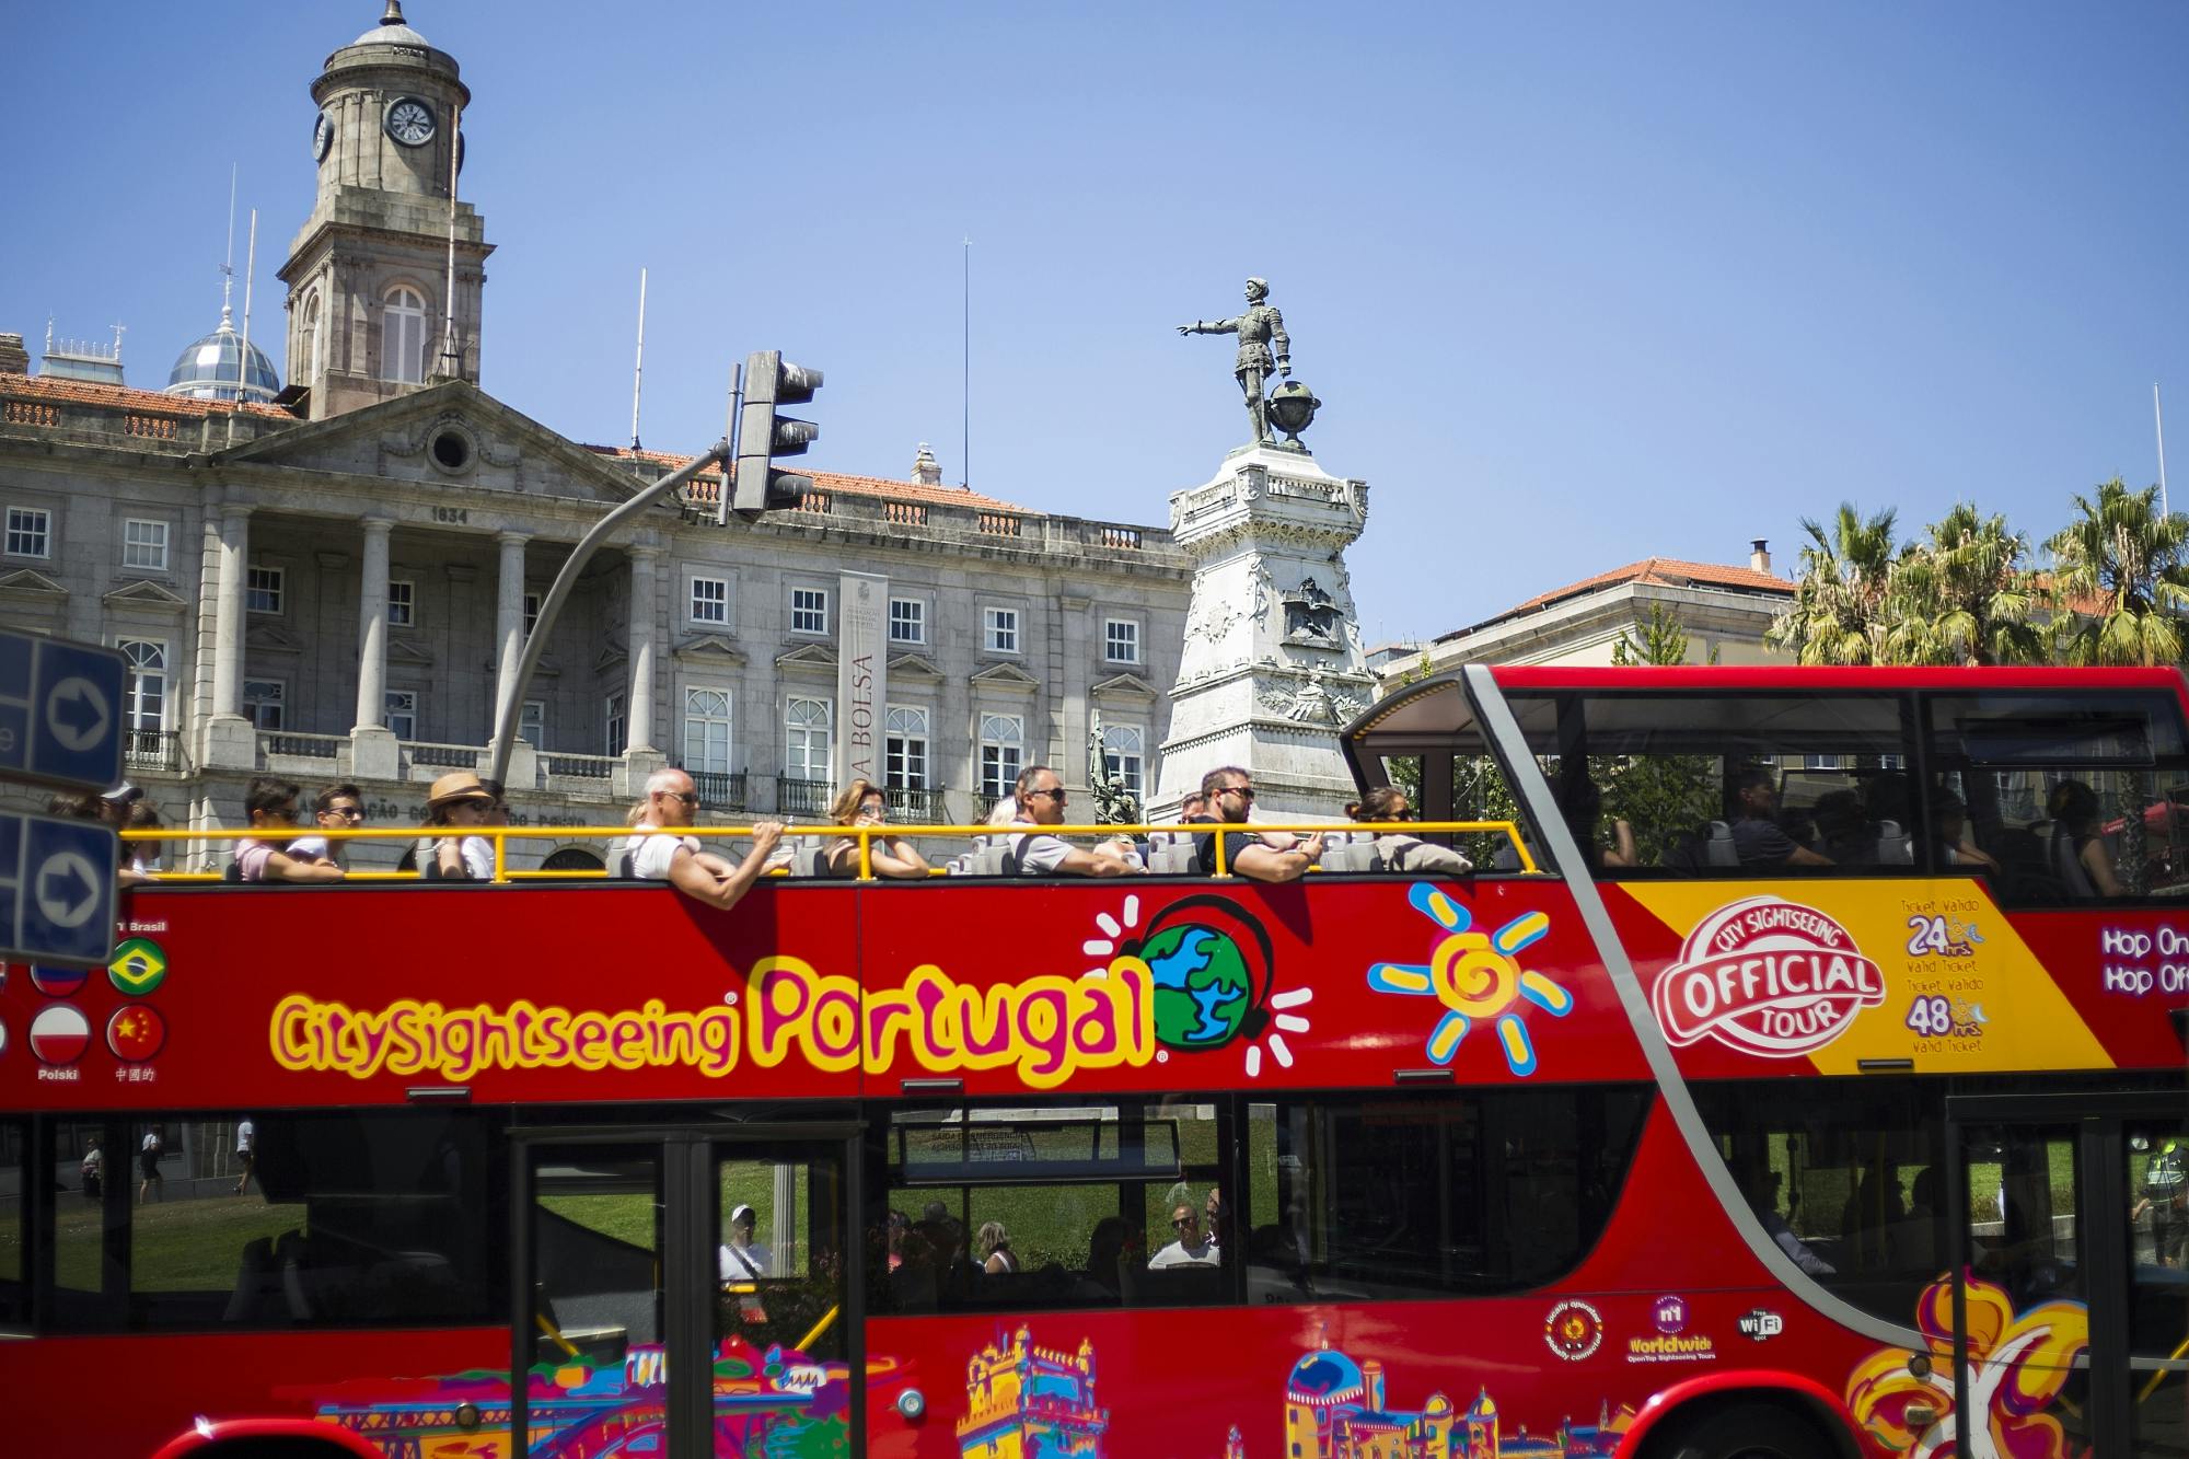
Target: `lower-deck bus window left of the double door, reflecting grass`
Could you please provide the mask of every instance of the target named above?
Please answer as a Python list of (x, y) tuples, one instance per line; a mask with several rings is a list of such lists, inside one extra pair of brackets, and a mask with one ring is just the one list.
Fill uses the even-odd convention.
[[(61, 1328), (352, 1328), (501, 1314), (490, 1139), (468, 1111), (190, 1113), (57, 1130), (57, 1157), (112, 1133), (127, 1144), (125, 1157), (101, 1150), (101, 1200), (57, 1196)], [(116, 1236), (127, 1310), (112, 1306), (120, 1264), (103, 1262)], [(107, 1301), (94, 1301), (101, 1295)]]

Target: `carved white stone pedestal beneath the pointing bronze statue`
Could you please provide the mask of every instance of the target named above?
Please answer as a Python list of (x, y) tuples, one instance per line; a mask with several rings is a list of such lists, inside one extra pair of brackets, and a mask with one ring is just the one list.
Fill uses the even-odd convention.
[(1215, 480), (1171, 497), (1193, 605), (1151, 819), (1219, 765), (1254, 776), (1259, 819), (1344, 815), (1337, 730), (1375, 697), (1344, 565), (1366, 521), (1368, 482), (1276, 447), (1232, 451)]

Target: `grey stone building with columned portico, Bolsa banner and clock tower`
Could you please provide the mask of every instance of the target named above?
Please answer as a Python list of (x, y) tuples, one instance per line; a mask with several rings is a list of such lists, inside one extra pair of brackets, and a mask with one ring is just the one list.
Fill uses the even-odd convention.
[[(451, 57), (390, 4), (313, 99), (278, 403), (28, 375), (0, 348), (0, 613), (131, 657), (129, 776), (171, 824), (236, 824), (258, 771), (355, 780), (377, 824), (416, 824), (427, 782), (486, 769), (569, 548), (685, 464), (479, 390), (490, 245), (462, 202), (453, 329), (442, 300)], [(720, 486), (696, 478), (589, 563), (523, 692), (514, 824), (619, 822), (661, 765), (694, 771), (705, 819), (816, 819), (843, 570), (889, 578), (897, 819), (976, 819), (1038, 760), (1086, 786), (1097, 714), (1116, 773), (1154, 789), (1191, 578), (1169, 532), (943, 486), (924, 449), (911, 480), (816, 473), (757, 524), (720, 526)]]

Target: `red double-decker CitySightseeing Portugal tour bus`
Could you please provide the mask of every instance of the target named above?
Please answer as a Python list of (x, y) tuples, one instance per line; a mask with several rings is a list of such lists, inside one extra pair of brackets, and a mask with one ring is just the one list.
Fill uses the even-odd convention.
[(131, 894), (0, 986), (0, 1450), (2189, 1446), (2180, 675), (1475, 668), (1344, 743), (1517, 843)]

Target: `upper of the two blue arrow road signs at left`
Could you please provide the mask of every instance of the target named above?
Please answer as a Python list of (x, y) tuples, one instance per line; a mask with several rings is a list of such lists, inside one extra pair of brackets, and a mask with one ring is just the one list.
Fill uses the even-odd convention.
[(123, 778), (123, 686), (114, 648), (0, 631), (0, 778), (103, 791)]

